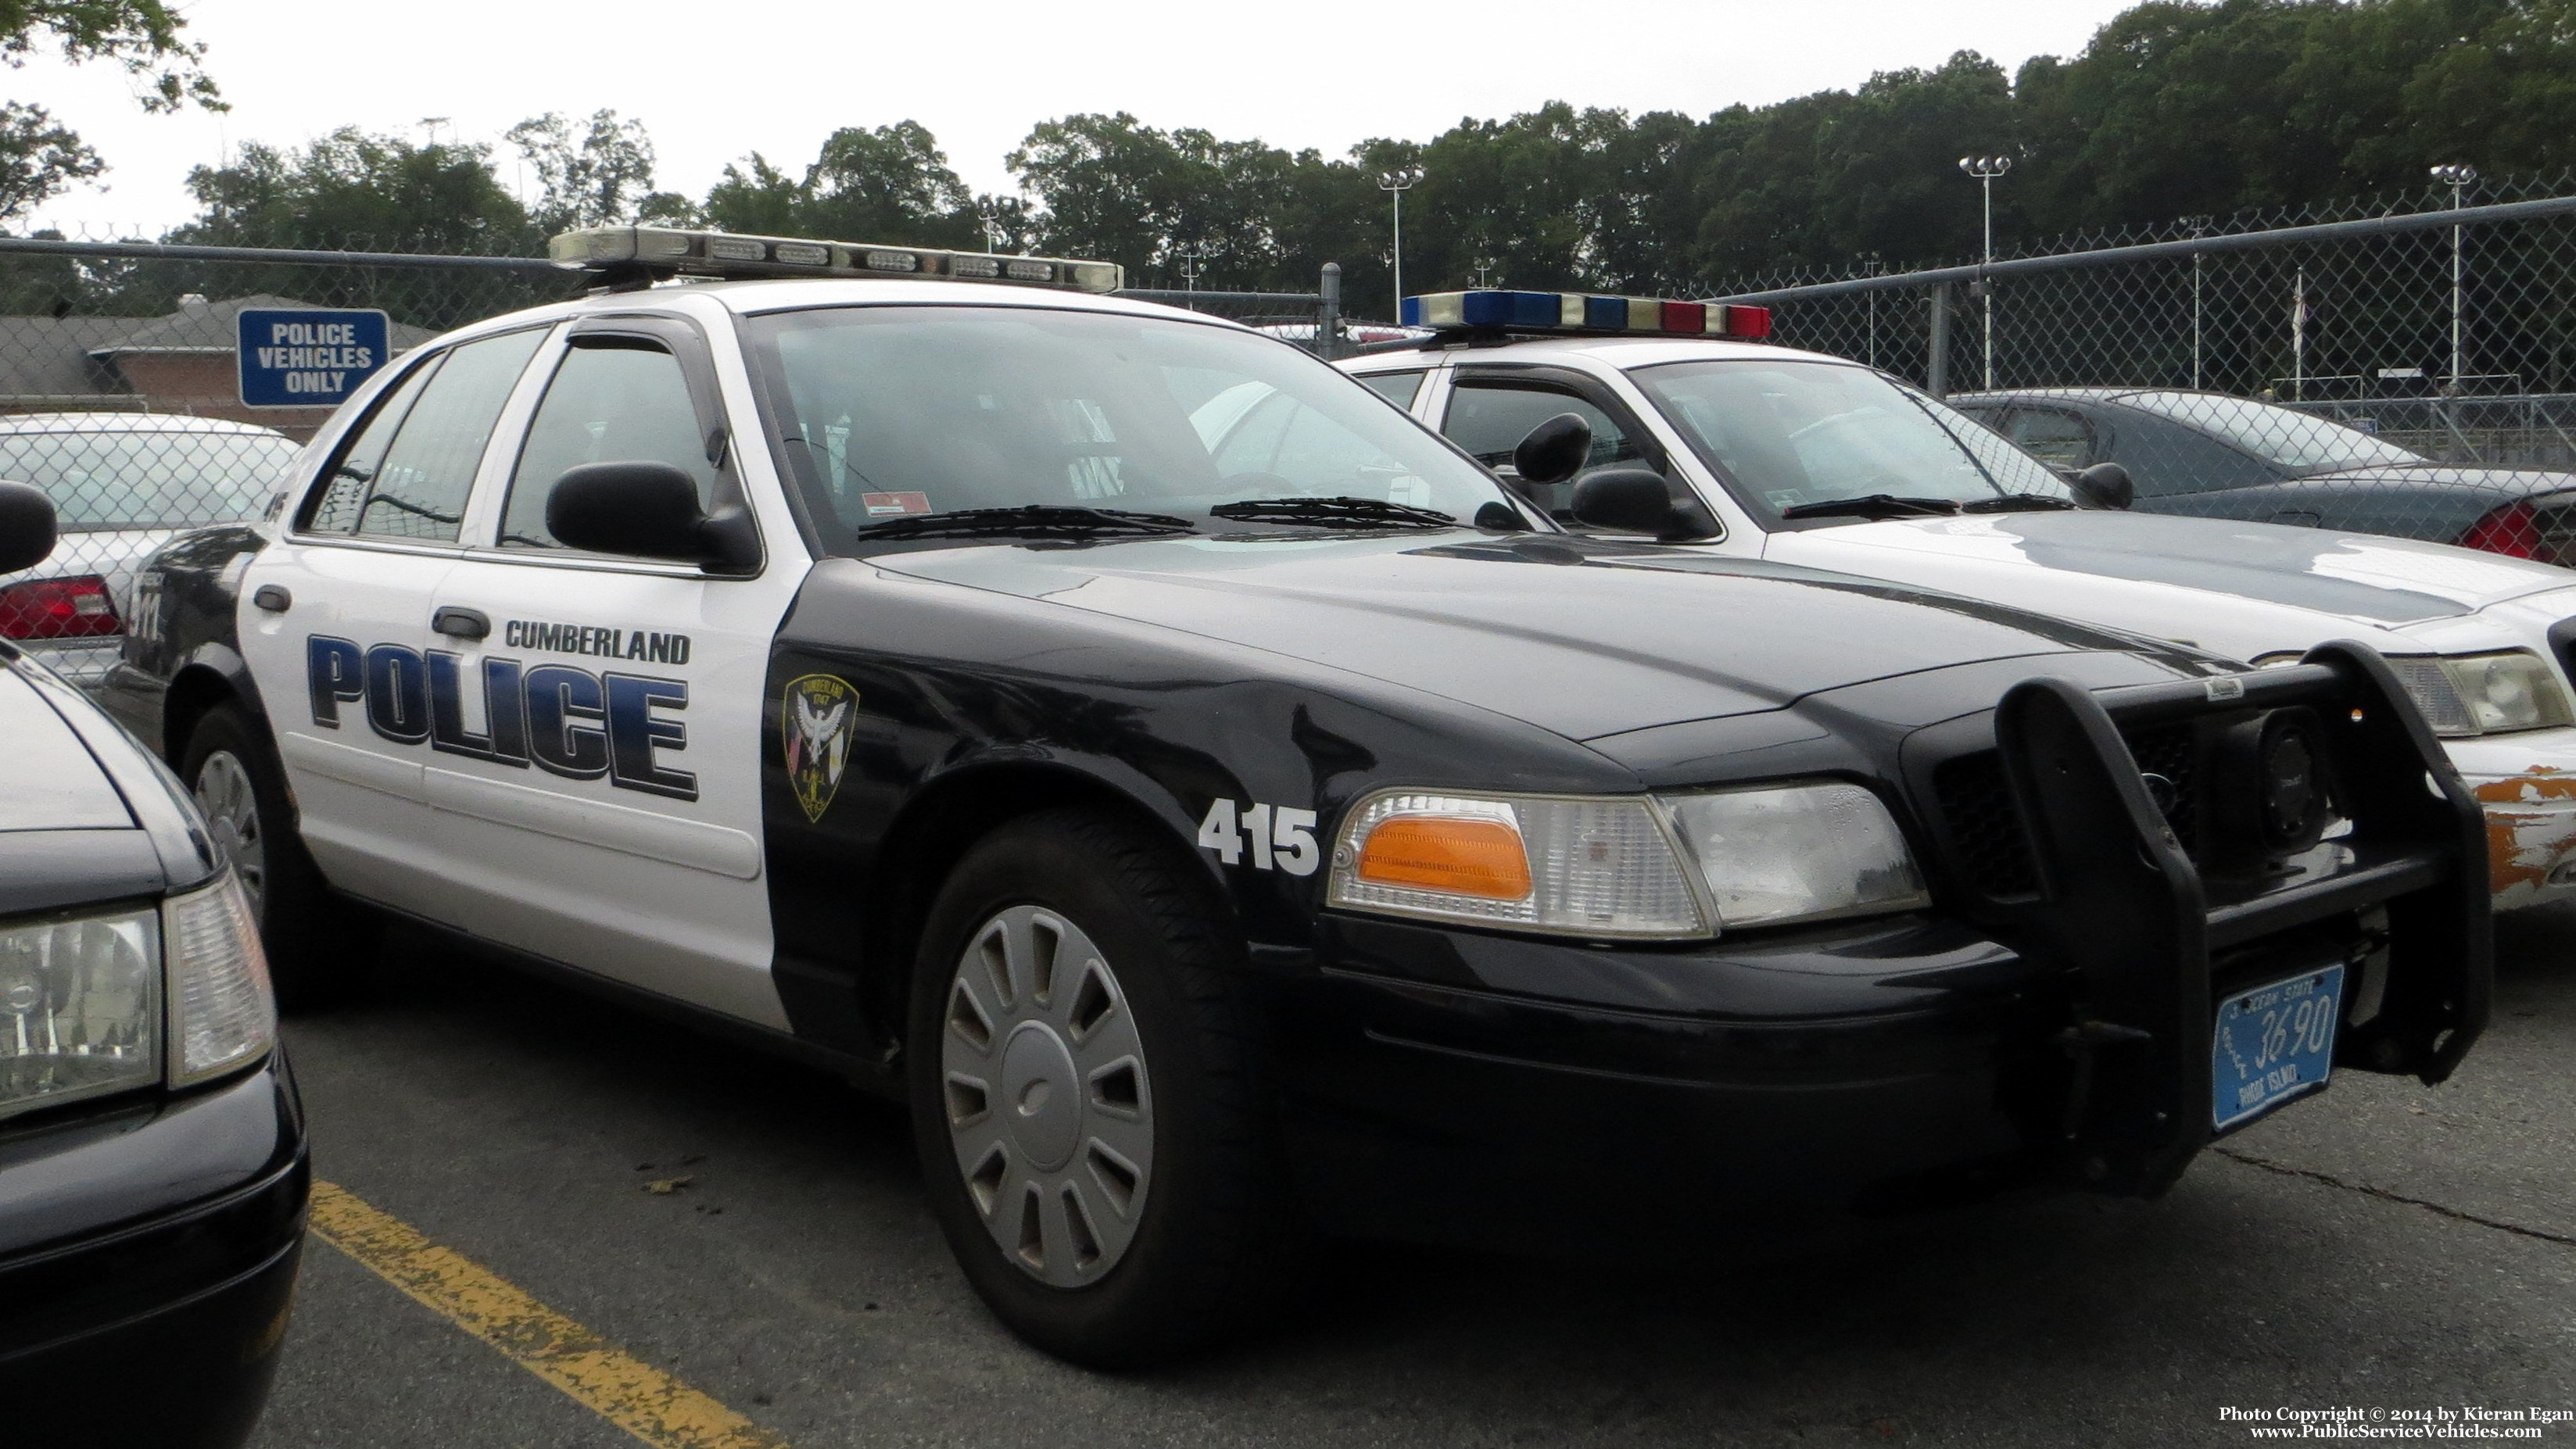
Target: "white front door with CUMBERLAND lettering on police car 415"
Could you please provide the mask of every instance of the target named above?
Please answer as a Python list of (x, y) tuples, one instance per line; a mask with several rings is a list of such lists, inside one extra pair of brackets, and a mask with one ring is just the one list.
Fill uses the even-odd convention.
[[(760, 728), (770, 641), (806, 558), (760, 571), (574, 553), (546, 530), (564, 468), (672, 463), (742, 502), (703, 335), (587, 317), (538, 360), (495, 450), (474, 548), (438, 587), (425, 795), (448, 916), (479, 937), (786, 1027), (770, 986)], [(489, 504), (484, 499), (489, 497)]]

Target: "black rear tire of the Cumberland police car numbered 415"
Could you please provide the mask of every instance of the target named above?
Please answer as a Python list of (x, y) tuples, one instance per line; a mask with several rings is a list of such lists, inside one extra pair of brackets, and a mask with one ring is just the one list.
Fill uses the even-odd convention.
[[(232, 795), (229, 772), (240, 772), (247, 782), (247, 821), (227, 824), (216, 816), (234, 811), (209, 808)], [(234, 870), (260, 924), (260, 945), (268, 947), (268, 978), (278, 991), (278, 1009), (296, 1011), (353, 996), (374, 963), (381, 916), (322, 880), (294, 829), (286, 770), (268, 731), (240, 708), (216, 705), (188, 734), (178, 775), (234, 854)]]

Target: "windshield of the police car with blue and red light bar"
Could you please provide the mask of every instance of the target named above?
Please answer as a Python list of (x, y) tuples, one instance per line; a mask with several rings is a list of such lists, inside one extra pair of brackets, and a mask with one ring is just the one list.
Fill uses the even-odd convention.
[[(1847, 363), (1747, 358), (1633, 368), (1646, 396), (1744, 507), (1780, 510), (1893, 494), (1958, 504), (2012, 494), (2074, 499), (2038, 458), (1888, 378)], [(1942, 417), (1935, 417), (1935, 409)]]

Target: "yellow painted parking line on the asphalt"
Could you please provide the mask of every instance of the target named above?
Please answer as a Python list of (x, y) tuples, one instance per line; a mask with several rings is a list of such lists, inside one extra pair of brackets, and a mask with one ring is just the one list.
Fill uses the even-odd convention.
[(528, 1297), (417, 1228), (314, 1181), (312, 1230), (582, 1408), (657, 1449), (788, 1449), (788, 1441)]

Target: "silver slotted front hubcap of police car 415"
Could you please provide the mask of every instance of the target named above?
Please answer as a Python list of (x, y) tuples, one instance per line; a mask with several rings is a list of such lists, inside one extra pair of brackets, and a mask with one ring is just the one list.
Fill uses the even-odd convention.
[(1154, 1091), (1100, 947), (1043, 906), (984, 921), (948, 981), (940, 1078), (1002, 1256), (1054, 1287), (1118, 1266), (1154, 1176)]

